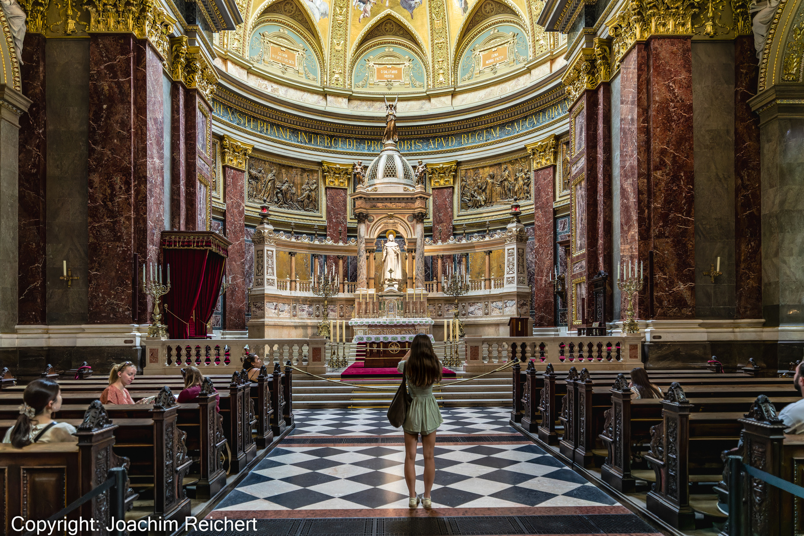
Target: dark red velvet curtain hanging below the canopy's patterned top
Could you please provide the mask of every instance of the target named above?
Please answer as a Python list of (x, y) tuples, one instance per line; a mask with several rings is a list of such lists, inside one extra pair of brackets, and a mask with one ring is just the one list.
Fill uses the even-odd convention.
[[(169, 338), (190, 338), (190, 322), (210, 253), (208, 249), (162, 249), (164, 263), (170, 264), (170, 292), (164, 297), (165, 325)], [(162, 273), (166, 273), (166, 270)]]

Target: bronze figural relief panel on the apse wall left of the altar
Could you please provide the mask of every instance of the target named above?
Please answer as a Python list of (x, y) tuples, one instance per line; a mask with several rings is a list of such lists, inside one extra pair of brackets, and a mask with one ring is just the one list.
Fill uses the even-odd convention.
[(248, 201), (291, 211), (320, 212), (318, 170), (248, 159)]

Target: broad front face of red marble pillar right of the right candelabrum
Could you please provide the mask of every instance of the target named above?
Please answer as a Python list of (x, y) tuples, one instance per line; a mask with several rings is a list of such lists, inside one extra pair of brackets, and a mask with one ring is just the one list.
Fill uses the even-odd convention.
[(695, 317), (695, 171), (688, 37), (648, 40), (652, 317)]

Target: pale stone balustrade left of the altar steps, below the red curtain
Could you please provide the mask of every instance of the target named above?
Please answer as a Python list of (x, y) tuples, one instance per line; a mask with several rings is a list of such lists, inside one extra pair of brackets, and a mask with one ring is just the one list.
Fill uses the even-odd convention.
[(171, 374), (183, 366), (197, 366), (203, 374), (230, 374), (243, 368), (248, 352), (262, 358), (265, 366), (290, 362), (306, 366), (310, 354), (308, 339), (168, 339), (146, 341), (146, 375)]

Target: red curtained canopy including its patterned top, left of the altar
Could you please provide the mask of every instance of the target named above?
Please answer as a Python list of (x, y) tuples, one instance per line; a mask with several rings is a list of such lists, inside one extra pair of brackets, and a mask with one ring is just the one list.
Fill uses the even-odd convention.
[(205, 338), (232, 245), (212, 231), (162, 231), (163, 272), (170, 264), (165, 324), (172, 339)]

